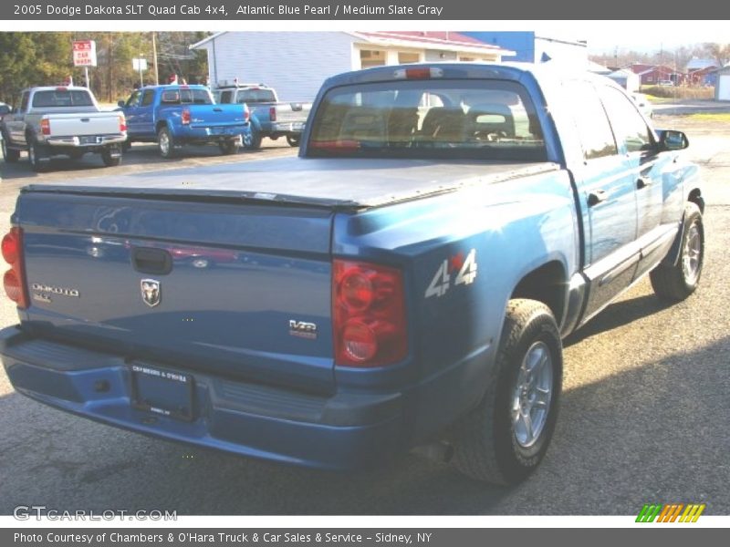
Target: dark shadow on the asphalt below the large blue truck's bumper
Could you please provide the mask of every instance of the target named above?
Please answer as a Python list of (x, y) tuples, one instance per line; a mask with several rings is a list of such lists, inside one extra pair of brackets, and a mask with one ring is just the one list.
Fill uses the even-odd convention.
[(707, 512), (726, 514), (730, 430), (719, 425), (730, 423), (728, 351), (730, 337), (658, 361), (636, 348), (616, 356), (630, 363), (618, 374), (568, 362), (568, 371), (591, 379), (565, 391), (547, 458), (513, 488), (475, 483), (410, 455), (360, 472), (242, 459), (108, 428), (10, 393), (0, 398), (0, 513), (32, 502), (180, 515), (635, 514), (649, 496), (709, 500)]

